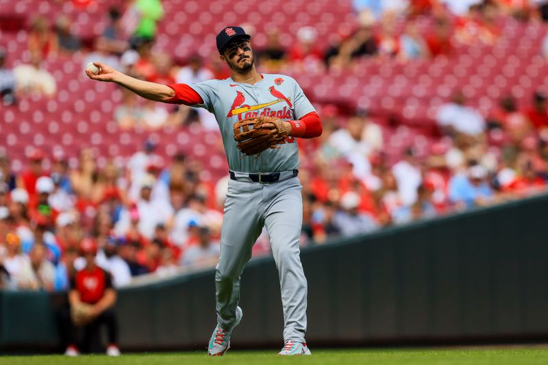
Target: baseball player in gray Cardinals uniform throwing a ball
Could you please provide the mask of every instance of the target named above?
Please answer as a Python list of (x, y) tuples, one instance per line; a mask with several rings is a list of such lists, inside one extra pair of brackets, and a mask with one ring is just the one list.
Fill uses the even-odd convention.
[(219, 57), (231, 71), (223, 80), (166, 86), (99, 62), (97, 73), (86, 74), (154, 101), (206, 108), (219, 123), (230, 180), (215, 275), (217, 325), (209, 355), (229, 349), (232, 330), (242, 319), (240, 275), (263, 226), (282, 289), (284, 347), (279, 355), (310, 355), (305, 340), (307, 284), (299, 258), (302, 197), (295, 138), (320, 136), (322, 126), (295, 79), (256, 71), (250, 38), (241, 27), (225, 27), (216, 36)]

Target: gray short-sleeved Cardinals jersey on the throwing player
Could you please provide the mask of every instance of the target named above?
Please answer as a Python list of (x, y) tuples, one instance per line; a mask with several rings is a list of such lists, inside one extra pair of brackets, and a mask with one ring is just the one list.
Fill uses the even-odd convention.
[(233, 125), (252, 116), (277, 116), (284, 121), (296, 120), (314, 107), (297, 81), (286, 75), (263, 73), (254, 85), (235, 82), (232, 78), (190, 84), (203, 105), (215, 115), (232, 171), (242, 173), (274, 173), (298, 168), (297, 141), (287, 137), (279, 149), (267, 149), (258, 156), (246, 156), (236, 147)]

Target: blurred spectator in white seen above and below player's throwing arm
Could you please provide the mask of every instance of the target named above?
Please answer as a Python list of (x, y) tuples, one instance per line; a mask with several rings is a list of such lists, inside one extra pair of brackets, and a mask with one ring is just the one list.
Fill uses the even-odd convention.
[[(203, 66), (203, 60), (199, 55), (192, 55), (188, 61), (188, 65), (182, 67), (177, 73), (175, 81), (177, 84), (194, 84), (206, 80), (213, 79), (213, 73)], [(190, 108), (186, 105), (179, 105), (177, 112), (177, 124), (186, 125), (192, 120), (193, 114), (197, 114), (198, 119), (206, 129), (218, 129), (215, 116), (203, 108)]]

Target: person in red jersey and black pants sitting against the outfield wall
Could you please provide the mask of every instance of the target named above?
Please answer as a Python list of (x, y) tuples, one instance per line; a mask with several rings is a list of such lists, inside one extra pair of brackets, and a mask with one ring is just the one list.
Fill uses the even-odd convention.
[[(62, 331), (66, 342), (66, 355), (78, 355), (79, 349), (87, 352), (97, 352), (101, 347), (101, 325), (106, 325), (108, 332), (108, 355), (120, 355), (117, 347), (118, 324), (114, 304), (116, 290), (112, 285), (111, 275), (95, 264), (97, 242), (92, 238), (84, 238), (79, 246), (80, 253), (85, 257), (86, 266), (78, 270), (71, 280), (69, 305), (86, 303), (92, 305), (92, 320), (84, 326), (84, 339), (78, 343), (75, 337), (75, 327), (68, 311), (62, 316)], [(67, 309), (68, 310), (68, 309)]]

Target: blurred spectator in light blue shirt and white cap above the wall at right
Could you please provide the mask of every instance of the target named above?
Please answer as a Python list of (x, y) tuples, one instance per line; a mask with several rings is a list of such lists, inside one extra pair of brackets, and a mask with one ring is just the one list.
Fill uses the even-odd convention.
[(488, 205), (493, 201), (493, 190), (487, 183), (486, 168), (471, 165), (466, 173), (459, 173), (449, 179), (449, 199), (457, 209)]

